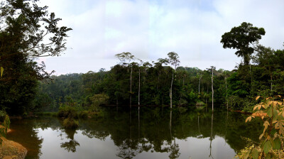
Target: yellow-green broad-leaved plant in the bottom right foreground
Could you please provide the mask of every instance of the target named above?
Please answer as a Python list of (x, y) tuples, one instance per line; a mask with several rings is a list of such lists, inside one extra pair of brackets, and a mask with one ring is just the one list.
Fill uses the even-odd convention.
[[(260, 96), (256, 97), (256, 101)], [(239, 158), (283, 158), (283, 135), (284, 135), (284, 104), (283, 98), (278, 95), (263, 99), (263, 102), (256, 104), (251, 116), (246, 122), (253, 118), (263, 120), (263, 133), (259, 136), (259, 145), (251, 146), (241, 150)]]

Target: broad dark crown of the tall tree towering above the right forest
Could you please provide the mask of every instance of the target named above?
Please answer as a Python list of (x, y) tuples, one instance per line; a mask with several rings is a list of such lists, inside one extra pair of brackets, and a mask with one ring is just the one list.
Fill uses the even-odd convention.
[(252, 44), (261, 39), (261, 35), (265, 35), (264, 28), (253, 27), (251, 23), (243, 22), (241, 26), (231, 28), (231, 31), (222, 35), (223, 48), (237, 49), (236, 55), (244, 58), (244, 65), (249, 65), (251, 54), (253, 54)]

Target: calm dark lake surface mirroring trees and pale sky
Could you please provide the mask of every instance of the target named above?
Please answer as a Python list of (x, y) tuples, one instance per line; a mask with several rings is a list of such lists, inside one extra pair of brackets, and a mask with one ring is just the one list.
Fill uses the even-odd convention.
[(76, 130), (54, 117), (12, 120), (8, 138), (28, 149), (26, 158), (233, 158), (258, 141), (261, 121), (246, 124), (233, 112), (197, 109), (106, 108)]

